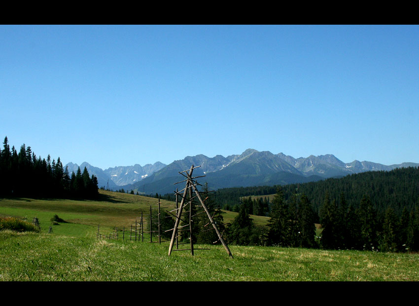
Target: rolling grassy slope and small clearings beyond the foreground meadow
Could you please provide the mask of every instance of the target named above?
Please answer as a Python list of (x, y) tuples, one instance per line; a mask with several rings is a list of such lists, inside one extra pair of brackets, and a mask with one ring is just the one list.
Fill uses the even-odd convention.
[[(108, 233), (115, 227), (129, 228), (135, 224), (135, 219), (149, 214), (150, 206), (158, 207), (158, 199), (134, 195), (129, 193), (100, 190), (98, 200), (54, 200), (54, 199), (0, 199), (0, 216), (27, 218), (28, 221), (37, 217), (42, 232), (48, 232), (49, 226), (54, 233), (67, 233), (71, 229), (72, 235), (96, 236), (97, 227), (100, 226)], [(161, 201), (161, 209), (172, 210), (175, 202)], [(70, 223), (52, 225), (50, 219), (57, 214), (61, 219)], [(224, 222), (232, 222), (238, 213), (224, 211)], [(267, 225), (269, 218), (253, 216), (251, 218), (257, 225)], [(79, 232), (77, 232), (80, 229)]]

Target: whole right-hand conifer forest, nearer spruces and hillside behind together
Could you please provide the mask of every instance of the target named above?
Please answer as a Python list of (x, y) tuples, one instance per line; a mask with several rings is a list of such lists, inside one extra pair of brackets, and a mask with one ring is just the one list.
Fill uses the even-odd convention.
[[(321, 247), (371, 251), (419, 251), (419, 168), (400, 168), (353, 174), (315, 183), (276, 186), (269, 204), (269, 230), (252, 226), (248, 214), (261, 203), (240, 192), (271, 187), (224, 189), (215, 192), (236, 196), (239, 215), (230, 229), (230, 242), (283, 247)], [(255, 192), (258, 194), (257, 192)], [(266, 193), (265, 193), (266, 194)], [(263, 194), (258, 194), (263, 195)], [(255, 206), (256, 205), (256, 206)], [(263, 211), (264, 212), (264, 211)], [(315, 238), (314, 223), (321, 235)], [(243, 230), (239, 224), (245, 224)], [(249, 229), (252, 229), (249, 231)], [(237, 231), (246, 235), (237, 234)], [(256, 232), (259, 232), (259, 235)], [(243, 236), (257, 239), (244, 240)]]

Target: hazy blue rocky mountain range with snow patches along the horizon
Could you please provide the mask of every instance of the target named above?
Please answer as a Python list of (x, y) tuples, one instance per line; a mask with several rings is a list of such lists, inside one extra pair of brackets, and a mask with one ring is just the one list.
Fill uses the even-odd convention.
[[(419, 166), (418, 163), (412, 162), (389, 166), (358, 160), (344, 163), (332, 154), (294, 158), (283, 153), (273, 154), (269, 151), (247, 149), (240, 155), (227, 157), (222, 155), (208, 157), (203, 154), (186, 156), (169, 165), (156, 162), (143, 167), (135, 164), (102, 170), (83, 162), (80, 169), (86, 167), (90, 175), (94, 174), (98, 178), (99, 187), (108, 186), (111, 190), (123, 188), (146, 194), (156, 192), (165, 194), (175, 191), (178, 185), (174, 183), (183, 180), (183, 176), (178, 172), (189, 169), (191, 165), (200, 166), (194, 169), (194, 176), (205, 175), (206, 177), (200, 178), (198, 182), (201, 184), (207, 182), (212, 190), (306, 183), (366, 171), (389, 171), (395, 168)], [(68, 163), (67, 166), (70, 173), (77, 171), (77, 164)], [(178, 186), (178, 189), (181, 190), (183, 187)]]

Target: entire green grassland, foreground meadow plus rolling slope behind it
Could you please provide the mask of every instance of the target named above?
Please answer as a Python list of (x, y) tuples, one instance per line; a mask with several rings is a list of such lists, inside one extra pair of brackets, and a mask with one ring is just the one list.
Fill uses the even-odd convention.
[[(41, 233), (0, 231), (0, 281), (419, 280), (419, 254), (229, 245), (231, 259), (220, 245), (195, 245), (210, 250), (169, 257), (168, 242), (97, 239), (98, 225), (103, 233), (129, 227), (141, 209), (157, 207), (154, 198), (100, 193), (98, 201), (0, 199), (0, 216), (37, 217), (41, 226)], [(174, 203), (162, 200), (162, 206)], [(51, 225), (54, 214), (69, 223)]]

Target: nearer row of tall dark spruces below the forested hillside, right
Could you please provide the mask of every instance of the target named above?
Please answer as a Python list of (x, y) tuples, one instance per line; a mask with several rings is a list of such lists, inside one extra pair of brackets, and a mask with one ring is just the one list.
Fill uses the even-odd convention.
[(400, 217), (392, 207), (378, 214), (370, 197), (364, 195), (357, 208), (348, 205), (345, 194), (332, 199), (326, 191), (320, 206), (320, 230), (316, 235), (317, 214), (304, 193), (285, 200), (278, 188), (272, 201), (268, 229), (253, 225), (248, 208), (227, 228), (227, 241), (241, 245), (276, 245), (323, 249), (407, 252), (419, 251), (419, 199), (412, 209), (403, 208)]

